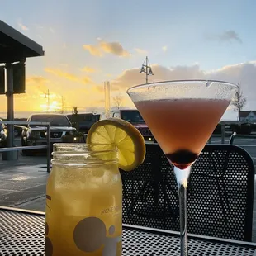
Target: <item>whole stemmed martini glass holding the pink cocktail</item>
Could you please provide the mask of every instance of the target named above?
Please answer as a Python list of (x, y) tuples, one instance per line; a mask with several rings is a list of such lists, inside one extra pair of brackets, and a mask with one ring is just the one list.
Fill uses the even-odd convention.
[(158, 141), (178, 183), (181, 255), (187, 256), (187, 179), (237, 86), (221, 81), (147, 83), (127, 93)]

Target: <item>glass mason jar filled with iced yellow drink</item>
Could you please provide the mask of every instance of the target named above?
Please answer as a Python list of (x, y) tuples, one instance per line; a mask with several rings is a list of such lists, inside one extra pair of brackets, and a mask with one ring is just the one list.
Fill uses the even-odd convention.
[(55, 144), (51, 162), (45, 255), (121, 256), (122, 184), (116, 148)]

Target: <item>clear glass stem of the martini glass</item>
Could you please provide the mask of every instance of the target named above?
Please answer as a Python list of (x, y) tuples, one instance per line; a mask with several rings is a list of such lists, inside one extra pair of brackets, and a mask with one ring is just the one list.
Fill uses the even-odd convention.
[(180, 218), (180, 238), (181, 256), (187, 256), (187, 180), (191, 167), (179, 169), (174, 167), (174, 173), (178, 183), (179, 218)]

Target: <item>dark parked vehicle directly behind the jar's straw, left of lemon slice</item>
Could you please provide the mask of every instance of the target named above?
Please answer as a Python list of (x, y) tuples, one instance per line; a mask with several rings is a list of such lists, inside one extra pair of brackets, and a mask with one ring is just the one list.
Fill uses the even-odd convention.
[(92, 125), (100, 119), (100, 115), (94, 113), (79, 113), (77, 115), (68, 115), (68, 118), (77, 130), (83, 132), (83, 134), (87, 134)]

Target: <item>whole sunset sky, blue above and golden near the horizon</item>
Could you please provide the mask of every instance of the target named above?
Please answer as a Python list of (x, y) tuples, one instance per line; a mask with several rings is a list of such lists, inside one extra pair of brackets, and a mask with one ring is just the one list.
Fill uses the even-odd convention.
[[(2, 21), (43, 46), (44, 57), (26, 60), (26, 94), (15, 96), (15, 116), (44, 111), (102, 111), (104, 81), (122, 107), (126, 89), (145, 83), (140, 67), (149, 56), (149, 82), (211, 78), (242, 84), (245, 110), (256, 110), (256, 2), (8, 0)], [(112, 102), (113, 105), (113, 102)], [(0, 116), (6, 97), (0, 95)], [(236, 118), (229, 110), (226, 118)]]

